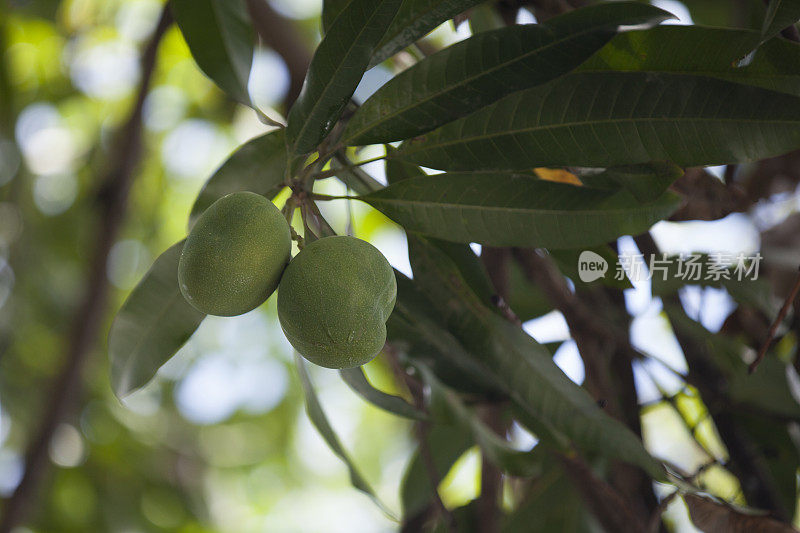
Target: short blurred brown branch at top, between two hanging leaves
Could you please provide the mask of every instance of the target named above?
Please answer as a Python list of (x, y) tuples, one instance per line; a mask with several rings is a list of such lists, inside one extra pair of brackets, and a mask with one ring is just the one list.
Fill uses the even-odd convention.
[(247, 0), (247, 8), (262, 42), (281, 56), (289, 69), (289, 92), (284, 99), (288, 110), (303, 88), (311, 51), (295, 31), (294, 23), (276, 13), (266, 0)]

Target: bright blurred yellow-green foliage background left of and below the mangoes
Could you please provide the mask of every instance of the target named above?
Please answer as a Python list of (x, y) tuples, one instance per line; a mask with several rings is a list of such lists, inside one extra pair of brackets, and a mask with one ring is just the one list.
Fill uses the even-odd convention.
[[(19, 480), (47, 384), (62, 365), (93, 244), (98, 175), (108, 164), (110, 135), (129, 112), (139, 50), (161, 7), (156, 0), (14, 0), (0, 12), (0, 65), (10, 83), (0, 106), (13, 113), (0, 129), (3, 497)], [(316, 20), (296, 24), (309, 31)], [(270, 57), (266, 82), (277, 85), (271, 104), (279, 107), (285, 67)], [(267, 131), (198, 70), (176, 28), (156, 65), (144, 158), (107, 268), (113, 299), (103, 331), (153, 258), (185, 235), (211, 171), (236, 145)], [(21, 165), (14, 164), (17, 145)], [(359, 233), (384, 231), (385, 222), (361, 224), (363, 217)], [(371, 365), (370, 374), (385, 374), (382, 364)], [(408, 423), (365, 404), (334, 372), (317, 372), (320, 395), (338, 406), (334, 425), (397, 507), (395, 480), (410, 453), (403, 437)], [(352, 492), (345, 470), (306, 420), (273, 302), (245, 317), (208, 320), (125, 405), (108, 376), (105, 339), (98, 338), (81, 407), (51, 446), (55, 468), (37, 498), (31, 530), (349, 531), (351, 520), (365, 530), (388, 527)], [(369, 442), (359, 437), (366, 428)], [(309, 517), (307, 506), (329, 512)]]

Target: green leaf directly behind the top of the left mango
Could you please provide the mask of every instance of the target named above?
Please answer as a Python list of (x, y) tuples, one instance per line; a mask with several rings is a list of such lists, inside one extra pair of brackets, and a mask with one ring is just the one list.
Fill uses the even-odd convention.
[(191, 228), (208, 206), (226, 194), (250, 191), (270, 200), (284, 187), (286, 142), (283, 130), (275, 130), (240, 146), (208, 179), (189, 215)]

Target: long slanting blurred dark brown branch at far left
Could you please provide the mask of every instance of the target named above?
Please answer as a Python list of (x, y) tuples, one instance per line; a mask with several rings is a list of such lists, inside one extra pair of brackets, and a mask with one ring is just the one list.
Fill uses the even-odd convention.
[(143, 51), (142, 78), (139, 82), (136, 103), (130, 117), (117, 132), (116, 144), (109, 157), (110, 168), (101, 181), (98, 194), (99, 234), (92, 251), (86, 281), (87, 288), (75, 316), (71, 334), (63, 357), (64, 367), (50, 391), (46, 412), (31, 440), (26, 456), (22, 480), (5, 504), (0, 533), (10, 533), (25, 520), (36, 498), (37, 486), (48, 470), (48, 447), (56, 427), (74, 407), (81, 389), (81, 375), (88, 355), (96, 341), (102, 324), (108, 296), (106, 263), (122, 224), (128, 190), (140, 159), (142, 148), (142, 109), (156, 62), (156, 52), (164, 33), (171, 24), (168, 9), (164, 9), (158, 25)]

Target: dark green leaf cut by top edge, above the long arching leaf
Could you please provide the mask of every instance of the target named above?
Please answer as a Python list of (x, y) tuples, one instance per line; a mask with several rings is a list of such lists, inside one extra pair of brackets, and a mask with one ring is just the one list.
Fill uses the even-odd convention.
[(437, 26), (484, 0), (403, 0), (397, 16), (372, 55), (370, 67), (390, 58)]

